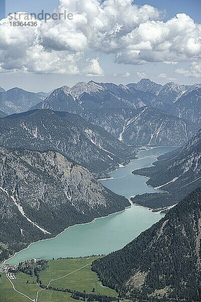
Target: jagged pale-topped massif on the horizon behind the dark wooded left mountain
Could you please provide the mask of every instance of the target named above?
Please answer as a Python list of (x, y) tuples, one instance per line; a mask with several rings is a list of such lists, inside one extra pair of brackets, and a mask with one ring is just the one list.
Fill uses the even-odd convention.
[[(136, 92), (138, 95), (136, 95)], [(60, 96), (61, 95), (61, 96)], [(58, 97), (59, 96), (59, 97)], [(154, 98), (154, 96), (153, 96)], [(150, 95), (113, 83), (79, 82), (72, 88), (62, 86), (32, 109), (52, 109), (81, 113), (92, 109), (136, 109), (150, 105)], [(58, 106), (61, 106), (60, 110)], [(70, 111), (69, 111), (70, 110)], [(78, 110), (78, 111), (76, 111)]]

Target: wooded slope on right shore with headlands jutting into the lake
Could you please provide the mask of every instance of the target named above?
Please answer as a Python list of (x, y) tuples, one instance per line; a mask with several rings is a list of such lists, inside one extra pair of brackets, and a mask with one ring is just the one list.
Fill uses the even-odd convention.
[(132, 198), (134, 203), (155, 209), (168, 207), (201, 187), (201, 130), (180, 150), (159, 157), (153, 165), (132, 173), (150, 177), (147, 184), (163, 193), (138, 195)]

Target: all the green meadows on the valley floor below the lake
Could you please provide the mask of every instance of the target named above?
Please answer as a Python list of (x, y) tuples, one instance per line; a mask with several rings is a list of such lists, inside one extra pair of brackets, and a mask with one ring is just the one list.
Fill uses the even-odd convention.
[[(69, 288), (78, 291), (86, 291), (91, 293), (95, 288), (95, 293), (117, 296), (115, 290), (102, 286), (98, 281), (97, 275), (91, 271), (91, 263), (98, 257), (80, 258), (80, 259), (59, 259), (49, 261), (49, 267), (40, 273), (40, 279), (43, 284), (47, 285), (51, 279), (59, 280), (52, 281), (50, 286)], [(1, 273), (0, 278), (0, 302), (30, 302), (28, 298), (17, 293), (8, 280), (5, 274)], [(68, 276), (65, 276), (67, 275)], [(65, 276), (65, 277), (63, 277)], [(29, 283), (27, 283), (27, 280)], [(12, 280), (15, 288), (35, 299), (38, 290), (41, 287), (36, 284), (36, 278), (24, 273), (18, 273), (17, 279)], [(34, 282), (34, 283), (33, 283)], [(52, 290), (40, 291), (38, 302), (75, 302), (75, 299), (70, 297), (70, 293), (64, 293)]]

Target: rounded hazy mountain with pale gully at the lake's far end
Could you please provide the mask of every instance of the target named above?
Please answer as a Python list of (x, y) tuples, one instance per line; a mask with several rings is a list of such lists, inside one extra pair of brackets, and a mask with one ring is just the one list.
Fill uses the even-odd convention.
[(123, 141), (137, 145), (182, 145), (195, 134), (194, 125), (153, 107), (137, 110), (122, 133)]

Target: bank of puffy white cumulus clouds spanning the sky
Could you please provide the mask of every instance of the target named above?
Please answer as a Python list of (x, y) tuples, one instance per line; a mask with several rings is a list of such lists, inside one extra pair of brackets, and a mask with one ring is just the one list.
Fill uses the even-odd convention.
[(37, 27), (1, 21), (1, 70), (103, 75), (97, 52), (113, 54), (124, 64), (201, 58), (201, 25), (185, 14), (163, 22), (156, 8), (138, 7), (132, 0), (60, 0), (56, 12), (64, 10), (73, 13), (73, 20), (38, 21)]

